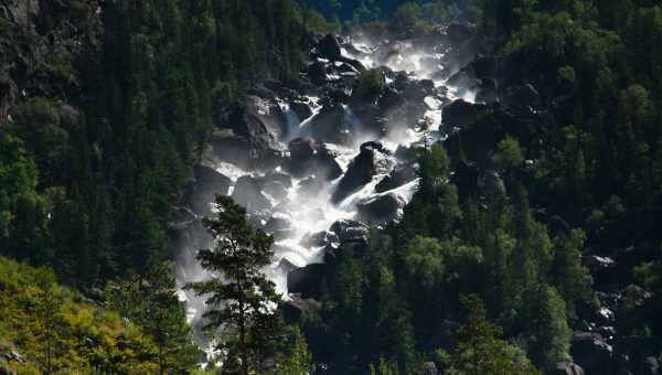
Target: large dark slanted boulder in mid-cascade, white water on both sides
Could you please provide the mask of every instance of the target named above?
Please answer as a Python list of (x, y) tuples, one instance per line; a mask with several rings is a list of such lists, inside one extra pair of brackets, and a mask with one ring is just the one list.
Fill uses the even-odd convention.
[(366, 142), (361, 146), (361, 152), (352, 160), (348, 171), (340, 180), (338, 189), (331, 196), (333, 203), (340, 203), (363, 185), (371, 182), (380, 173), (388, 171), (388, 160), (384, 149), (376, 142)]

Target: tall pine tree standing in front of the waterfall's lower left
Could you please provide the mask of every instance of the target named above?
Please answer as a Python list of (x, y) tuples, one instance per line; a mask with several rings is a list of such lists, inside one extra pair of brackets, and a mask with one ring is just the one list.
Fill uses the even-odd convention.
[(197, 259), (216, 277), (186, 288), (206, 297), (207, 328), (224, 331), (218, 349), (228, 353), (227, 371), (247, 375), (258, 367), (264, 345), (277, 332), (274, 310), (280, 296), (261, 271), (274, 256), (274, 239), (254, 229), (246, 210), (232, 197), (216, 196), (215, 206), (217, 217), (204, 218), (203, 224), (216, 245), (201, 249)]

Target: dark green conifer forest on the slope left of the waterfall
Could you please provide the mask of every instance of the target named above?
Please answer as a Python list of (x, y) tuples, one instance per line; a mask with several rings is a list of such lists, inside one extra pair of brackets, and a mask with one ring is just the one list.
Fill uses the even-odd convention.
[[(292, 0), (122, 0), (103, 17), (87, 0), (40, 8), (34, 36), (65, 40), (43, 36), (30, 77), (12, 76), (39, 89), (2, 126), (0, 254), (82, 288), (168, 258), (173, 203), (214, 124), (241, 87), (297, 81), (308, 30), (331, 29)], [(15, 46), (8, 61), (35, 53), (21, 33), (0, 39)]]

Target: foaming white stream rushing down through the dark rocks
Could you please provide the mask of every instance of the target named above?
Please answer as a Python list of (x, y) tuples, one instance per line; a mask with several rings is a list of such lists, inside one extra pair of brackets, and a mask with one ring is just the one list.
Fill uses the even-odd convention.
[[(344, 57), (357, 60), (367, 68), (386, 66), (393, 72), (407, 72), (408, 79), (412, 81), (431, 79), (435, 89), (439, 89), (444, 94), (425, 97), (423, 101), (427, 107), (418, 125), (392, 124), (388, 131), (378, 139), (375, 139), (374, 135), (369, 136), (357, 132), (351, 135), (351, 142), (330, 142), (325, 140), (325, 150), (329, 150), (334, 156), (337, 164), (342, 170), (340, 176), (331, 179), (322, 185), (314, 185), (313, 189), (309, 186), (310, 176), (292, 178), (291, 185), (287, 188), (286, 194), (281, 194), (280, 196), (270, 195), (268, 192), (261, 191), (261, 195), (268, 200), (271, 208), (267, 210), (266, 214), (263, 213), (259, 216), (258, 224), (264, 225), (267, 232), (269, 232), (269, 227), (271, 229), (274, 227), (277, 228), (273, 232), (276, 238), (276, 257), (274, 258), (274, 262), (265, 269), (265, 274), (276, 283), (284, 299), (289, 298), (287, 275), (291, 269), (323, 261), (324, 246), (310, 246), (306, 239), (312, 234), (329, 231), (338, 221), (361, 219), (357, 212), (360, 204), (370, 204), (385, 195), (394, 196), (403, 205), (408, 203), (417, 186), (417, 179), (414, 175), (409, 181), (405, 181), (387, 191), (377, 192), (375, 186), (395, 167), (401, 164), (401, 160), (396, 157), (401, 148), (429, 143), (440, 137), (438, 130), (441, 125), (441, 108), (445, 103), (452, 100), (456, 96), (460, 96), (466, 100), (472, 99), (472, 95), (469, 92), (459, 93), (456, 89), (445, 87), (444, 78), (439, 78), (447, 76), (439, 73), (446, 68), (444, 64), (445, 54), (439, 51), (425, 52), (417, 49), (410, 42), (396, 42), (394, 51), (397, 51), (397, 53), (384, 53), (384, 51), (380, 50), (385, 47), (393, 49), (393, 46), (384, 43), (373, 43), (367, 39), (362, 40), (361, 38), (351, 38), (350, 42), (345, 44), (350, 44), (354, 53), (350, 53), (343, 47), (342, 53)], [(391, 84), (393, 79), (386, 77), (386, 82)], [(303, 97), (310, 108), (310, 116), (307, 118), (299, 118), (299, 115), (291, 108), (291, 103), (287, 98), (279, 97), (276, 99), (287, 122), (284, 133), (277, 135), (279, 137), (278, 141), (284, 144), (301, 136), (316, 137), (312, 128), (314, 120), (322, 111), (322, 100), (314, 95), (303, 95)], [(351, 106), (342, 104), (342, 122), (348, 126), (348, 133), (350, 133), (351, 129), (363, 126)], [(377, 153), (380, 160), (376, 161), (381, 165), (381, 169), (367, 183), (364, 183), (361, 188), (334, 203), (332, 196), (339, 189), (339, 184), (348, 172), (352, 161), (360, 154), (359, 144), (365, 141), (378, 141), (383, 144), (384, 151)], [(242, 176), (249, 175), (255, 179), (265, 176), (265, 171), (245, 170), (211, 156), (206, 157), (204, 164), (229, 178), (232, 184), (228, 194), (231, 195), (234, 192), (234, 184)], [(286, 172), (286, 169), (277, 167), (270, 172), (282, 173)], [(395, 218), (401, 214), (402, 207), (398, 208)], [(282, 223), (282, 226), (286, 228), (282, 228), (281, 225), (273, 226), (270, 223)], [(211, 238), (200, 233), (201, 231), (202, 227), (199, 226), (194, 231), (194, 234), (190, 235), (190, 238), (183, 246), (184, 248), (180, 251), (177, 269), (177, 280), (180, 286), (210, 277), (194, 258), (196, 249), (213, 245)], [(190, 291), (180, 291), (180, 297), (188, 303), (190, 322), (193, 324), (197, 323), (202, 312), (205, 310), (203, 299)]]

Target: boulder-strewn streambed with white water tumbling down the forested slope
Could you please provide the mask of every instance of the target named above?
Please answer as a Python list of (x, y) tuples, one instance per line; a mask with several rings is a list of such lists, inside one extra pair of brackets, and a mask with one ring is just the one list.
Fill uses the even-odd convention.
[[(212, 246), (201, 218), (214, 194), (231, 195), (276, 239), (265, 272), (286, 300), (316, 297), (314, 280), (345, 242), (365, 242), (372, 227), (397, 221), (416, 186), (416, 149), (445, 138), (442, 107), (472, 99), (472, 87), (447, 86), (471, 36), (393, 41), (389, 35), (313, 35), (298, 87), (266, 82), (246, 93), (215, 129), (194, 182), (183, 194), (177, 229), (180, 285), (210, 277), (195, 260)], [(378, 69), (386, 85), (356, 93), (359, 77)], [(204, 302), (190, 292), (190, 320)]]

